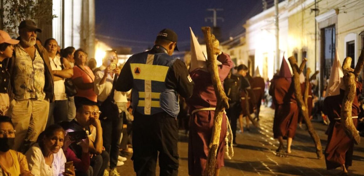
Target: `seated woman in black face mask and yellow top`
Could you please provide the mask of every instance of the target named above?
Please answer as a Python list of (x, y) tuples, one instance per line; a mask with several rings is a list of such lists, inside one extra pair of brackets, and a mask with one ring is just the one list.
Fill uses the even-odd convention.
[(11, 150), (15, 139), (14, 125), (7, 116), (0, 116), (0, 175), (32, 176), (27, 158), (20, 152)]

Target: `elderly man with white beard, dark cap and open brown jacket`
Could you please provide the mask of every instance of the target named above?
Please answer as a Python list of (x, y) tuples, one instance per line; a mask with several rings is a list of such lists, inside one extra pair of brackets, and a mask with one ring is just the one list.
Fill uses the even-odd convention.
[(47, 50), (36, 44), (37, 32), (32, 20), (19, 24), (19, 44), (7, 64), (11, 75), (8, 116), (15, 127), (13, 149), (25, 152), (44, 131), (50, 102), (54, 101), (54, 81)]

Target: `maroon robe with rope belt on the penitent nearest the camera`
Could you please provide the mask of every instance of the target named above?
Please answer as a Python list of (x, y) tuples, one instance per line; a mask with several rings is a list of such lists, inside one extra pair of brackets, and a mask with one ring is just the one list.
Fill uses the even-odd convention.
[[(230, 59), (230, 56), (225, 53), (221, 54), (217, 59), (222, 63), (222, 65), (218, 66), (219, 77), (222, 82), (233, 67), (233, 62)], [(195, 83), (193, 95), (186, 101), (190, 106), (190, 112), (204, 107), (216, 107), (217, 99), (211, 82), (210, 73), (198, 69), (192, 71), (190, 75)], [(191, 114), (188, 143), (189, 175), (203, 175), (203, 172), (205, 171), (209, 144), (212, 136), (212, 127), (214, 124), (214, 114), (215, 112), (213, 110), (203, 110)], [(222, 118), (219, 146), (217, 149), (217, 169), (224, 166), (226, 130), (226, 116), (224, 115)]]

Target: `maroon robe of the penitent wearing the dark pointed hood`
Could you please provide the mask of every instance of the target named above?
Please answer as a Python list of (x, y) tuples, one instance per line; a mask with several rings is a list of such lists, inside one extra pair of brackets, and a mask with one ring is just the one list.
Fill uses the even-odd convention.
[(277, 77), (272, 81), (269, 94), (275, 103), (273, 136), (294, 138), (298, 123), (298, 107), (290, 79)]

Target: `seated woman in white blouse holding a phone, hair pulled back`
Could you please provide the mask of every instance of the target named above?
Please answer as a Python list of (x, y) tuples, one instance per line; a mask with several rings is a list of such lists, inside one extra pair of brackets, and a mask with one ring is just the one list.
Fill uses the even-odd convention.
[(74, 168), (64, 169), (67, 162), (63, 146), (64, 129), (59, 125), (50, 125), (40, 133), (35, 143), (25, 153), (29, 169), (35, 176), (74, 176)]

